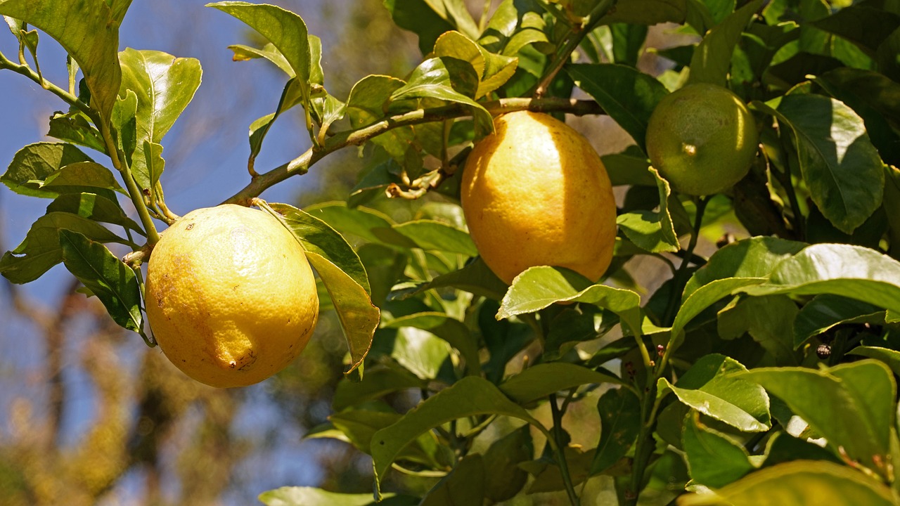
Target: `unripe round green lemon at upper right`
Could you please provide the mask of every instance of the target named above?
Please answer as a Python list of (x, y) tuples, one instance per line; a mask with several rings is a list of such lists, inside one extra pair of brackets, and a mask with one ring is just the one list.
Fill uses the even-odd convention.
[(756, 157), (753, 115), (731, 90), (688, 85), (662, 98), (647, 124), (647, 155), (682, 194), (717, 194), (740, 181)]

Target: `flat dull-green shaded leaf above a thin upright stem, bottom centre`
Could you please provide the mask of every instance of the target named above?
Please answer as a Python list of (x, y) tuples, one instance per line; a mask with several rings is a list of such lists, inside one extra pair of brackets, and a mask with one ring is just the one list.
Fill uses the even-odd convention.
[(565, 362), (548, 362), (531, 366), (513, 375), (502, 384), (500, 390), (519, 404), (544, 399), (551, 393), (570, 390), (582, 384), (624, 384), (621, 378), (605, 375), (588, 367)]

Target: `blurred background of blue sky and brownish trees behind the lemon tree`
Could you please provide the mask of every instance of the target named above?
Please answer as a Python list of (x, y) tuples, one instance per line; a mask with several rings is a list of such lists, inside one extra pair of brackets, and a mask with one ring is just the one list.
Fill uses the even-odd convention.
[[(300, 14), (322, 39), (326, 87), (339, 98), (361, 77), (402, 77), (421, 58), (416, 39), (392, 24), (382, 0), (269, 3)], [(134, 2), (121, 26), (121, 49), (163, 50), (202, 64), (202, 86), (163, 140), (166, 203), (178, 214), (220, 203), (247, 184), (247, 126), (275, 110), (286, 80), (266, 61), (231, 61), (229, 44), (262, 42), (204, 4)], [(0, 51), (7, 58), (17, 52), (5, 30)], [(65, 53), (46, 36), (38, 52), (44, 76), (65, 83)], [(0, 168), (26, 144), (49, 140), (50, 114), (66, 108), (24, 77), (0, 72)], [(602, 129), (590, 135), (602, 140), (601, 154), (630, 143), (606, 118), (572, 123)], [(276, 167), (308, 148), (296, 114), (285, 115), (256, 167)], [(356, 149), (347, 149), (262, 196), (301, 206), (345, 199), (363, 163)], [(47, 203), (0, 187), (0, 251), (22, 241)], [(117, 327), (77, 287), (61, 266), (30, 285), (0, 278), (0, 503), (254, 504), (259, 492), (283, 485), (371, 492), (368, 456), (334, 439), (303, 438), (327, 420), (345, 367), (346, 345), (333, 315), (322, 315), (310, 346), (282, 374), (219, 390), (182, 375), (158, 348)], [(570, 417), (583, 415), (583, 423), (596, 424), (593, 404), (584, 404)], [(516, 503), (552, 504), (557, 496), (538, 494)]]

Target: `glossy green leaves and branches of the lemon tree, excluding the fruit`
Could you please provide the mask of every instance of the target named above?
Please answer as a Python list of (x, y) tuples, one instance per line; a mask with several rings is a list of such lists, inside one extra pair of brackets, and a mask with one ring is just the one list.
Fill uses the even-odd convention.
[[(224, 200), (265, 207), (255, 198), (267, 187), (365, 145), (370, 163), (346, 203), (270, 209), (318, 273), (356, 371), (318, 434), (373, 457), (376, 495), (391, 474), (437, 474), (424, 497), (383, 497), (478, 504), (564, 491), (574, 504), (578, 485), (603, 474), (623, 504), (658, 492), (684, 494), (682, 504), (896, 503), (896, 5), (504, 0), (476, 20), (462, 0), (384, 4), (418, 37), (422, 59), (402, 77), (364, 77), (347, 96), (329, 94), (320, 40), (299, 14), (211, 4), (268, 41), (232, 46), (235, 59), (266, 59), (285, 80), (275, 111), (250, 125), (250, 182)], [(162, 142), (201, 68), (158, 51), (117, 53), (129, 5), (0, 1), (22, 48), (0, 69), (69, 105), (50, 120), (59, 141), (24, 147), (0, 176), (14, 192), (51, 199), (0, 273), (27, 283), (61, 262), (113, 321), (143, 332), (139, 264), (152, 258), (156, 223), (176, 218), (162, 192)], [(657, 50), (671, 65), (651, 75), (638, 63), (656, 23), (695, 42)], [(69, 86), (25, 58), (38, 43), (31, 26), (68, 51)], [(179, 86), (153, 87), (161, 80)], [(645, 145), (656, 105), (699, 84), (732, 90), (759, 130), (747, 175), (703, 197), (673, 190)], [(572, 100), (578, 90), (591, 100)], [(267, 131), (298, 106), (311, 149), (259, 170)], [(600, 283), (548, 262), (507, 285), (478, 257), (456, 203), (458, 173), (468, 147), (490, 139), (492, 115), (519, 110), (605, 113), (635, 141), (603, 158), (625, 197)], [(365, 207), (386, 197), (427, 203), (396, 222)], [(698, 248), (725, 226), (716, 247)], [(122, 263), (108, 243), (135, 252)], [(629, 265), (642, 257), (671, 276), (635, 285)], [(415, 410), (383, 402), (410, 392), (421, 394)], [(595, 398), (596, 445), (572, 445), (563, 415)], [(371, 499), (339, 492), (285, 487), (261, 500)]]

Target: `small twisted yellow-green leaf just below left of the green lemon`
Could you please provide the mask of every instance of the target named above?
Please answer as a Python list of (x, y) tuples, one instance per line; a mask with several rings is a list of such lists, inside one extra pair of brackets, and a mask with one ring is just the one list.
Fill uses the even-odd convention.
[(623, 212), (616, 219), (619, 230), (622, 230), (635, 246), (645, 251), (651, 253), (678, 251), (680, 243), (669, 213), (671, 194), (669, 182), (663, 179), (655, 168), (648, 167), (647, 170), (653, 176), (659, 190), (660, 210)]

